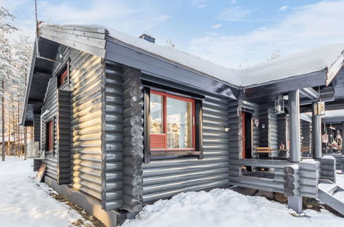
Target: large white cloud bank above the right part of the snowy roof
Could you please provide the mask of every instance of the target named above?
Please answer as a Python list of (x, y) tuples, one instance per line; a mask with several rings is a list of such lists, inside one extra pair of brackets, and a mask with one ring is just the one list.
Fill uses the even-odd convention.
[(233, 36), (205, 35), (190, 41), (192, 54), (227, 67), (265, 61), (272, 50), (289, 54), (324, 43), (344, 42), (344, 1), (324, 1), (294, 10), (273, 28)]

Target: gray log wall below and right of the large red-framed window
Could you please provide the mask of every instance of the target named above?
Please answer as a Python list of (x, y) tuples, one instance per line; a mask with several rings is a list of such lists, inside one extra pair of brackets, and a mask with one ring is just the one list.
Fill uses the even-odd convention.
[[(230, 142), (234, 135), (237, 144), (237, 127), (228, 120), (228, 100), (221, 96), (203, 94), (203, 159), (177, 158), (152, 160), (143, 163), (143, 203), (154, 202), (185, 191), (226, 186)], [(230, 126), (230, 132), (225, 127)], [(236, 133), (235, 133), (236, 132)]]

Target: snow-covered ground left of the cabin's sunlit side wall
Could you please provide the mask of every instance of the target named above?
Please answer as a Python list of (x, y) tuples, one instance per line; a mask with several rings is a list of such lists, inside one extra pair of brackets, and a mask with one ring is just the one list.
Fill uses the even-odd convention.
[(72, 226), (83, 219), (76, 210), (50, 197), (51, 188), (35, 182), (32, 160), (0, 162), (0, 226)]

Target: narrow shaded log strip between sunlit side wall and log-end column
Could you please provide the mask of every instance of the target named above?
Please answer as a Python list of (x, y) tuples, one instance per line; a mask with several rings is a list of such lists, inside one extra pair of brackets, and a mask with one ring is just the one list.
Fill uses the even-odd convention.
[(123, 70), (105, 62), (103, 72), (101, 204), (112, 210), (123, 206)]

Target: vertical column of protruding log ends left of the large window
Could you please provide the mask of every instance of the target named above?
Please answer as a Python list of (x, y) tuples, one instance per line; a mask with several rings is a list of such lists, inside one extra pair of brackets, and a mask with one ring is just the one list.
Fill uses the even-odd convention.
[(124, 67), (123, 73), (123, 208), (142, 209), (143, 91), (141, 71)]

